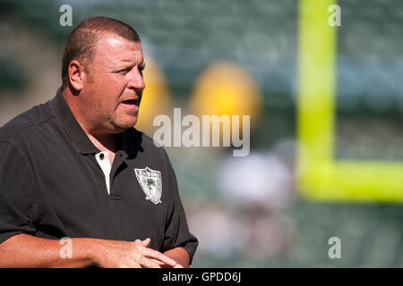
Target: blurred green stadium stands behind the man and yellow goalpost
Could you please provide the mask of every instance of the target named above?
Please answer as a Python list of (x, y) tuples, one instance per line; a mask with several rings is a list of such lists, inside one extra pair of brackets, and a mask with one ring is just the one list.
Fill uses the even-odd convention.
[[(389, 181), (390, 199), (358, 201), (301, 192), (298, 43), (301, 5), (314, 1), (2, 1), (0, 125), (54, 97), (60, 86), (72, 29), (59, 24), (62, 4), (72, 6), (73, 26), (95, 15), (126, 21), (140, 33), (146, 55), (139, 124), (150, 136), (153, 116), (173, 107), (182, 107), (183, 116), (252, 114), (249, 156), (233, 157), (228, 147), (167, 147), (200, 239), (194, 267), (401, 267), (403, 186)], [(338, 4), (333, 159), (399, 165), (403, 2)], [(330, 13), (323, 13), (327, 20)], [(201, 86), (211, 94), (203, 98)], [(331, 237), (341, 240), (340, 259), (328, 256)]]

